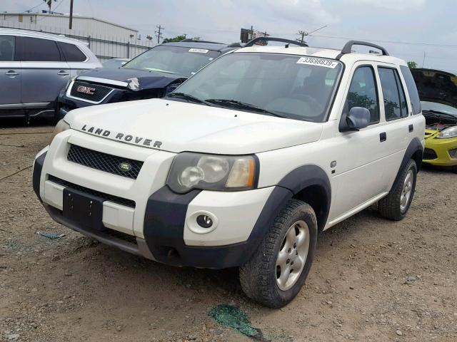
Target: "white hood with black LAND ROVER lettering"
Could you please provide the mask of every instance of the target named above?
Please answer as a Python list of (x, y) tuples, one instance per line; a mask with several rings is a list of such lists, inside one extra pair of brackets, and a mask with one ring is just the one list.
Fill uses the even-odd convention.
[(313, 142), (322, 123), (164, 99), (71, 110), (74, 130), (169, 152), (243, 155)]

